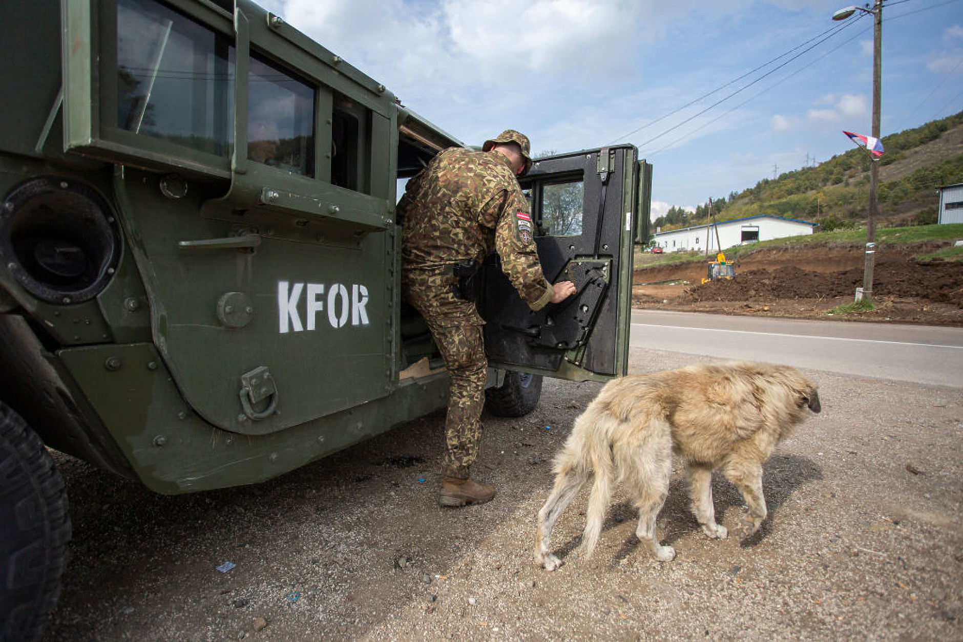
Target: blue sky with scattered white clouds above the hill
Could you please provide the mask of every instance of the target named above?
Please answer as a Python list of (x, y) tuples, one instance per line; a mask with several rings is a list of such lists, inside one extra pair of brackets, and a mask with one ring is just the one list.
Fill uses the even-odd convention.
[[(847, 0), (260, 4), (467, 144), (638, 145), (653, 218), (871, 133), (872, 17), (832, 21)], [(887, 0), (882, 49), (883, 136), (963, 110), (963, 0)]]

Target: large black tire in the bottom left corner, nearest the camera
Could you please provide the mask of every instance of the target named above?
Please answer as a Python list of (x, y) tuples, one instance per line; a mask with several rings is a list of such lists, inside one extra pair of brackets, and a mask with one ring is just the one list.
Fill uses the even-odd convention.
[(0, 640), (34, 640), (61, 592), (70, 541), (64, 479), (0, 402)]

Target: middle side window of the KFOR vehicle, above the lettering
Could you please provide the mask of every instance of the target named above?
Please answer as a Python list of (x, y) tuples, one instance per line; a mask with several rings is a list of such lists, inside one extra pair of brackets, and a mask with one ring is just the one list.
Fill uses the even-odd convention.
[(315, 91), (252, 55), (247, 81), (247, 158), (314, 176)]

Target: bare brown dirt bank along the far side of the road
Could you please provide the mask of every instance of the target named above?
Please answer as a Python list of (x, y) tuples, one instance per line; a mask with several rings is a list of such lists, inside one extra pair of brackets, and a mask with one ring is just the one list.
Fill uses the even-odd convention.
[[(853, 318), (963, 325), (963, 263), (913, 258), (933, 247), (880, 250), (873, 270), (877, 309)], [(732, 280), (701, 283), (706, 266), (699, 262), (637, 270), (633, 301), (641, 308), (826, 318), (853, 301), (864, 264), (861, 247), (766, 249), (739, 259)]]

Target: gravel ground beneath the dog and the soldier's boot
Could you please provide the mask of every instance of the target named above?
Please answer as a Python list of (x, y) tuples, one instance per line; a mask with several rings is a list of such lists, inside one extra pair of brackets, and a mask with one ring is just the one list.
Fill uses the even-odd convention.
[[(634, 350), (633, 372), (699, 357)], [(952, 388), (807, 372), (822, 413), (765, 468), (769, 518), (712, 541), (676, 467), (658, 532), (638, 548), (616, 495), (578, 560), (585, 497), (534, 566), (551, 458), (597, 383), (546, 379), (534, 413), (484, 418), (477, 477), (498, 495), (442, 509), (444, 416), (256, 487), (161, 497), (56, 454), (74, 539), (45, 639), (963, 639), (963, 398)], [(736, 489), (714, 479), (735, 526)], [(235, 566), (226, 572), (225, 562)]]

